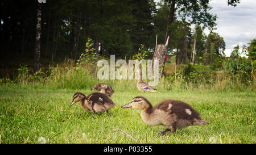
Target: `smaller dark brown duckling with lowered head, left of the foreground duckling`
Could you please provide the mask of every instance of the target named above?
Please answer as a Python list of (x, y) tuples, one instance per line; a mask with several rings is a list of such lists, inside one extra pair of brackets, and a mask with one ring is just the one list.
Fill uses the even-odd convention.
[(93, 114), (95, 112), (104, 112), (106, 111), (109, 115), (109, 109), (115, 106), (115, 103), (108, 98), (105, 94), (102, 93), (92, 93), (88, 95), (88, 97), (85, 96), (85, 94), (82, 94), (80, 92), (77, 92), (73, 95), (73, 100), (70, 106), (72, 106), (74, 103), (81, 101), (81, 107), (86, 111), (92, 111)]

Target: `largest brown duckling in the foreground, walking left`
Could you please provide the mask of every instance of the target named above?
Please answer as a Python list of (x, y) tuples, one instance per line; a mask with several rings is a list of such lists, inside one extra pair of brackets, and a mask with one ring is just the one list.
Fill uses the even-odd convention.
[(135, 97), (122, 108), (135, 108), (142, 110), (143, 122), (148, 125), (163, 125), (166, 130), (159, 131), (162, 135), (171, 131), (174, 135), (177, 128), (185, 128), (189, 125), (209, 124), (200, 118), (200, 114), (189, 104), (179, 100), (164, 100), (152, 107), (152, 104), (144, 97)]

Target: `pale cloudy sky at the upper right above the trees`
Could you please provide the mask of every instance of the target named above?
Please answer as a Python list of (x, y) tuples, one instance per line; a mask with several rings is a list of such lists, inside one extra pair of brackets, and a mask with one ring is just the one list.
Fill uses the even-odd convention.
[[(227, 0), (212, 0), (209, 5), (213, 7), (210, 12), (218, 16), (213, 32), (224, 37), (226, 56), (237, 44), (242, 48), (256, 38), (256, 0), (241, 0), (236, 7), (228, 6)], [(204, 32), (209, 34), (207, 29)]]

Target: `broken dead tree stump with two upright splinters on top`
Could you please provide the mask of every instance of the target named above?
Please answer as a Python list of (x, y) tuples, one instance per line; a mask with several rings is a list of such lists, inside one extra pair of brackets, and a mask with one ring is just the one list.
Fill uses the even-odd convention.
[(159, 78), (161, 77), (164, 71), (164, 64), (166, 63), (167, 56), (167, 46), (168, 46), (169, 36), (167, 37), (166, 44), (158, 45), (158, 35), (156, 35), (155, 39), (155, 52), (153, 56), (152, 66), (154, 66), (154, 61), (158, 60), (159, 62)]

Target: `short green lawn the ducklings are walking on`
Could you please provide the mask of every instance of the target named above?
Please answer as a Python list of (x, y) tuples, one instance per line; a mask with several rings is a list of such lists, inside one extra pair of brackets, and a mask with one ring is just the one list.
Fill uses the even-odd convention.
[[(106, 113), (93, 115), (82, 110), (80, 103), (69, 104), (77, 91), (88, 95), (90, 90), (47, 89), (36, 86), (0, 86), (0, 142), (39, 143), (254, 143), (255, 92), (166, 91), (141, 93), (118, 91), (112, 100), (117, 106)], [(134, 87), (135, 88), (135, 87)], [(210, 124), (177, 129), (175, 136), (168, 132), (159, 135), (163, 126), (145, 124), (139, 110), (122, 109), (137, 95), (143, 95), (155, 105), (164, 99), (183, 100), (191, 104)], [(115, 128), (123, 132), (112, 132)]]

